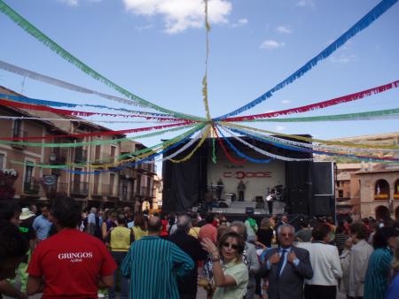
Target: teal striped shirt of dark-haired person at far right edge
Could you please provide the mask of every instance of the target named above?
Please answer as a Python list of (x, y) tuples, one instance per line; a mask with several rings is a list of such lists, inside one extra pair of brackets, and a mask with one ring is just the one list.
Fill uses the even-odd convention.
[(384, 299), (391, 260), (390, 249), (374, 250), (364, 280), (364, 299)]

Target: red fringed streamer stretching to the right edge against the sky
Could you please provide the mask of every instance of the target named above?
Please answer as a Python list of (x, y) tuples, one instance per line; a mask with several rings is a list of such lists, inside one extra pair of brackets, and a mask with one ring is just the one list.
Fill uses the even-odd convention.
[(254, 120), (254, 119), (267, 119), (267, 118), (274, 118), (279, 115), (287, 115), (287, 114), (292, 114), (292, 113), (301, 113), (301, 112), (306, 112), (306, 111), (312, 111), (312, 110), (326, 108), (326, 107), (336, 105), (339, 103), (347, 103), (347, 102), (359, 100), (359, 99), (364, 98), (365, 96), (376, 95), (376, 94), (382, 93), (384, 91), (387, 91), (391, 88), (397, 88), (398, 86), (399, 86), (399, 80), (395, 80), (394, 82), (387, 83), (385, 85), (381, 85), (377, 88), (366, 89), (363, 91), (356, 92), (355, 94), (336, 97), (336, 98), (333, 98), (331, 100), (327, 100), (324, 102), (311, 103), (306, 106), (301, 106), (301, 107), (296, 107), (296, 108), (291, 108), (291, 109), (286, 109), (286, 110), (281, 110), (281, 111), (246, 115), (246, 116), (235, 117), (235, 118), (227, 118), (227, 119), (222, 119), (222, 121), (243, 121), (243, 120)]

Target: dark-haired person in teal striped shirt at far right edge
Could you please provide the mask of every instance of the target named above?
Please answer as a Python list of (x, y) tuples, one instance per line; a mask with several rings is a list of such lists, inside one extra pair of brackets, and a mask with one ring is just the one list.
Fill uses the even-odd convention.
[(374, 234), (372, 247), (374, 252), (369, 259), (364, 280), (364, 299), (383, 299), (395, 249), (398, 231), (393, 227), (384, 226)]

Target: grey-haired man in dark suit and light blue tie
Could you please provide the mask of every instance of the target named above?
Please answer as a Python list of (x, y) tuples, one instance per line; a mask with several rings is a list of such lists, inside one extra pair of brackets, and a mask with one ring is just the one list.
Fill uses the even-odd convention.
[(260, 274), (269, 280), (269, 299), (302, 299), (303, 280), (313, 277), (309, 251), (293, 246), (294, 233), (291, 225), (278, 226), (280, 246), (265, 256)]

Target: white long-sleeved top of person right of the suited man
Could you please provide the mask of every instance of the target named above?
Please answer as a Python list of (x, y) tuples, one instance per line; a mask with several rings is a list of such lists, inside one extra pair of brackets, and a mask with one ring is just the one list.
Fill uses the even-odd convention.
[(305, 284), (317, 286), (338, 286), (338, 279), (342, 277), (340, 256), (335, 246), (322, 242), (298, 243), (298, 247), (309, 251), (313, 278), (305, 280)]

